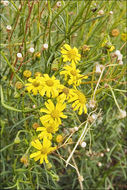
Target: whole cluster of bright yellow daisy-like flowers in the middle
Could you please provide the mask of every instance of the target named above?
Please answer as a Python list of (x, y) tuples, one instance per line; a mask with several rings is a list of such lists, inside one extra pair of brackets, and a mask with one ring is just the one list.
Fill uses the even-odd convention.
[[(35, 78), (28, 78), (28, 83), (25, 84), (28, 93), (40, 95), (44, 101), (44, 106), (40, 109), (42, 116), (40, 122), (42, 126), (36, 127), (39, 132), (38, 138), (31, 142), (31, 145), (37, 149), (30, 155), (35, 161), (40, 160), (40, 164), (45, 161), (48, 163), (47, 155), (56, 150), (57, 147), (52, 147), (54, 136), (58, 132), (62, 120), (67, 118), (64, 114), (67, 104), (72, 106), (74, 111), (78, 111), (81, 115), (83, 112), (87, 113), (86, 97), (78, 89), (83, 79), (87, 76), (80, 74), (80, 70), (76, 68), (76, 64), (80, 61), (81, 55), (78, 49), (73, 49), (65, 44), (61, 48), (63, 62), (66, 62), (60, 76), (64, 75), (64, 85), (54, 75), (51, 77), (48, 74), (35, 75)], [(28, 77), (30, 73), (24, 72), (24, 76)], [(61, 77), (62, 79), (62, 77)], [(61, 135), (60, 139), (62, 139)], [(56, 138), (57, 142), (61, 142)]]

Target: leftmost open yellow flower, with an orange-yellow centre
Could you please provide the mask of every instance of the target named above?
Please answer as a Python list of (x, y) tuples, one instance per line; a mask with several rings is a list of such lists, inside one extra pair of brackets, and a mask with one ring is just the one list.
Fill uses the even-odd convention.
[(43, 88), (42, 86), (42, 77), (37, 76), (35, 79), (29, 78), (28, 81), (30, 83), (25, 84), (26, 90), (28, 92), (33, 92), (33, 95), (37, 95), (38, 92), (40, 92)]

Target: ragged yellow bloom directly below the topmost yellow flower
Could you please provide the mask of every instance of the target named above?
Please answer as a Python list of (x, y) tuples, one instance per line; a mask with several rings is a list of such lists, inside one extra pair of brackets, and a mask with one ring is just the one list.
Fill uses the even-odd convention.
[(80, 74), (80, 70), (76, 69), (75, 63), (72, 63), (70, 65), (66, 65), (64, 68), (64, 71), (61, 71), (61, 75), (65, 75), (65, 80), (68, 81), (69, 85), (75, 85), (79, 86), (81, 84), (82, 79), (87, 79), (88, 76), (84, 76)]

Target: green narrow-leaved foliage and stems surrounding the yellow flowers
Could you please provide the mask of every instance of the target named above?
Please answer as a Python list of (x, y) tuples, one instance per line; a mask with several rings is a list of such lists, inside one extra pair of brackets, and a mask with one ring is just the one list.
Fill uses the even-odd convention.
[[(88, 127), (84, 139), (87, 146), (82, 148), (78, 145), (73, 154), (78, 171), (84, 178), (81, 182), (83, 189), (124, 190), (127, 188), (126, 118), (119, 118), (118, 105), (120, 109), (126, 109), (126, 42), (121, 39), (126, 27), (126, 2), (62, 0), (59, 8), (57, 2), (10, 0), (7, 7), (0, 3), (1, 189), (81, 188), (82, 180), (78, 179), (76, 169), (71, 165), (66, 167), (65, 161), (80, 138), (84, 125), (72, 136), (72, 143), (49, 155), (51, 168), (46, 164), (40, 165), (30, 159), (29, 154), (30, 142), (36, 136), (32, 125), (39, 123), (39, 109), (44, 101), (26, 92), (24, 87), (17, 89), (15, 86), (17, 81), (23, 85), (27, 83), (23, 76), (26, 69), (32, 72), (32, 76), (39, 71), (58, 78), (63, 67), (60, 48), (67, 43), (79, 49), (82, 58), (78, 68), (89, 76), (80, 86), (87, 102), (93, 97), (100, 77), (95, 72), (95, 63), (105, 66), (95, 93), (97, 120)], [(100, 10), (104, 14), (99, 15)], [(7, 31), (7, 25), (11, 25), (11, 31)], [(113, 29), (119, 30), (118, 36), (111, 35)], [(123, 65), (112, 59), (112, 52), (106, 46), (102, 47), (105, 40), (121, 51)], [(43, 50), (45, 43), (48, 44), (47, 50)], [(83, 51), (84, 45), (90, 50)], [(34, 47), (34, 54), (29, 53), (30, 47)], [(17, 59), (19, 52), (23, 61)], [(40, 57), (36, 53), (40, 53)], [(57, 70), (52, 69), (53, 64), (57, 65)], [(69, 128), (87, 120), (86, 115), (78, 116), (69, 108), (67, 115), (61, 129), (64, 135), (68, 135)], [(26, 166), (21, 162), (24, 155), (28, 156)], [(69, 163), (75, 165), (72, 159)]]

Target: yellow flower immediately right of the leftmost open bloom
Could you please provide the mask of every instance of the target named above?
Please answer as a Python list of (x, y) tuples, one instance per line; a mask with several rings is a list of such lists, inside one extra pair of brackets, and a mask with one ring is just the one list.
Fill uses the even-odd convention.
[(54, 76), (50, 78), (48, 74), (44, 74), (42, 85), (43, 85), (43, 89), (40, 92), (42, 96), (44, 96), (45, 93), (46, 93), (46, 96), (49, 98), (51, 97), (51, 95), (52, 95), (52, 98), (55, 98), (58, 96), (59, 94), (58, 88), (60, 87), (60, 82), (59, 80), (56, 80)]

